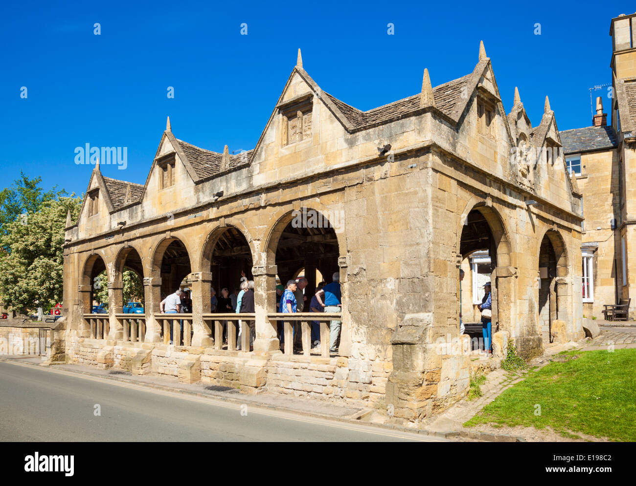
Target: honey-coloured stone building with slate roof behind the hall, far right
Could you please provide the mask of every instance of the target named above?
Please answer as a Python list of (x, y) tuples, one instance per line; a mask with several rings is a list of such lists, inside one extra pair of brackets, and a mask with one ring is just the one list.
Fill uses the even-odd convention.
[[(636, 13), (612, 18), (612, 84), (598, 97), (592, 125), (561, 132), (570, 173), (583, 194), (583, 313), (632, 299), (636, 311)], [(609, 105), (608, 125), (603, 103)]]

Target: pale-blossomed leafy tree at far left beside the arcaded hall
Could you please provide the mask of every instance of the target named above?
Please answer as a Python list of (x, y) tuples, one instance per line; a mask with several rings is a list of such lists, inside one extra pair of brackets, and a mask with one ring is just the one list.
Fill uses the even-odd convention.
[(7, 249), (0, 255), (0, 298), (18, 313), (62, 301), (66, 215), (71, 210), (77, 219), (82, 201), (74, 194), (44, 201), (34, 191), (25, 200), (39, 200), (38, 210), (3, 224), (0, 233), (0, 248)]

